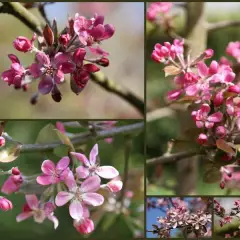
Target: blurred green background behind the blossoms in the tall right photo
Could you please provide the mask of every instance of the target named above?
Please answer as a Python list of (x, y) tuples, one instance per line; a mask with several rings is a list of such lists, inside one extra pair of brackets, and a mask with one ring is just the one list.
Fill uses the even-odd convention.
[[(223, 20), (240, 20), (239, 18), (239, 3), (232, 2), (206, 2), (206, 18), (209, 22), (217, 22)], [(181, 35), (184, 24), (184, 10), (174, 10), (180, 15), (174, 21), (174, 26), (177, 27), (177, 32)], [(197, 11), (197, 9), (196, 9)], [(147, 23), (147, 32), (150, 32), (152, 25)], [(240, 40), (240, 26), (229, 27), (213, 32), (208, 36), (207, 48), (214, 50), (214, 57), (211, 60), (219, 60), (221, 56), (227, 57), (234, 62), (234, 59), (226, 56), (225, 49), (230, 41)], [(154, 109), (165, 107), (165, 99), (167, 91), (173, 89), (173, 81), (171, 77), (164, 78), (164, 65), (155, 63), (151, 59), (151, 53), (156, 43), (163, 43), (165, 41), (171, 42), (161, 29), (158, 29), (152, 34), (147, 35), (147, 103)], [(185, 116), (185, 118), (184, 118)], [(192, 120), (187, 117), (187, 113), (181, 114), (181, 121), (185, 121), (186, 125), (191, 126)], [(194, 125), (193, 125), (194, 126)], [(161, 156), (167, 150), (167, 143), (171, 139), (179, 137), (181, 132), (181, 123), (179, 115), (164, 117), (147, 124), (147, 159)], [(187, 146), (185, 150), (190, 150), (191, 146)], [(149, 167), (147, 171), (148, 176), (148, 194), (174, 194), (172, 187), (176, 184), (176, 165), (166, 164), (161, 166)], [(219, 188), (218, 183), (206, 184), (202, 181), (203, 164), (202, 161), (198, 163), (198, 182), (196, 184), (196, 192), (198, 194), (226, 194), (225, 190)], [(165, 181), (163, 181), (165, 179)], [(164, 182), (164, 183), (163, 183)], [(184, 184), (184, 183), (182, 183)], [(163, 186), (165, 185), (165, 187)], [(166, 187), (167, 186), (167, 187)], [(231, 191), (231, 194), (239, 194), (239, 190)], [(228, 193), (229, 194), (229, 193)]]

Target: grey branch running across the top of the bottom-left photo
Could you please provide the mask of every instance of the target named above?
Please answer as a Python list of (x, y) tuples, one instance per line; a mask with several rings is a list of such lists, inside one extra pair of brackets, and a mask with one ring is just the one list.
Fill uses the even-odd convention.
[[(144, 128), (144, 122), (138, 122), (138, 123), (133, 123), (125, 126), (112, 128), (110, 130), (97, 131), (96, 137), (92, 136), (90, 132), (76, 134), (74, 137), (70, 138), (70, 140), (74, 145), (82, 145), (95, 138), (96, 140), (101, 140), (108, 137), (114, 137), (116, 135), (129, 135), (136, 131), (142, 131), (143, 128)], [(20, 152), (31, 153), (31, 152), (51, 151), (60, 145), (63, 145), (63, 143), (60, 141), (47, 143), (47, 144), (23, 144)]]

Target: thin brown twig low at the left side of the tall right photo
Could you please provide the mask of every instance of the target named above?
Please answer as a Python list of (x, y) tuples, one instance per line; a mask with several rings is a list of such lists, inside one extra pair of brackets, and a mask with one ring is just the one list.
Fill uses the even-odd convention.
[(177, 161), (182, 160), (184, 158), (193, 157), (193, 156), (196, 156), (196, 155), (199, 155), (199, 154), (200, 153), (198, 153), (196, 151), (185, 151), (185, 152), (174, 153), (174, 154), (167, 155), (167, 156), (161, 156), (161, 157), (148, 159), (147, 160), (147, 165), (177, 162)]

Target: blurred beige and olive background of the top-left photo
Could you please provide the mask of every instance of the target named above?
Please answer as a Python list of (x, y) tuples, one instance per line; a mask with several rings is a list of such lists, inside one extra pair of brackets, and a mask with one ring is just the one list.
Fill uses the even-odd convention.
[[(37, 9), (31, 12), (38, 18)], [(105, 16), (105, 23), (115, 26), (114, 36), (103, 42), (102, 47), (110, 53), (110, 65), (101, 68), (109, 79), (130, 89), (137, 96), (144, 97), (144, 3), (142, 2), (56, 2), (46, 7), (50, 20), (57, 19), (59, 29), (67, 24), (68, 16), (75, 13), (93, 17), (94, 13)], [(24, 66), (33, 61), (33, 54), (17, 52), (13, 40), (18, 36), (32, 37), (32, 31), (13, 16), (0, 14), (0, 73), (10, 66), (8, 54), (16, 54)], [(68, 77), (67, 77), (68, 78)], [(63, 99), (56, 103), (50, 94), (42, 96), (36, 106), (29, 103), (37, 90), (31, 84), (28, 92), (16, 91), (0, 81), (0, 117), (13, 119), (51, 118), (142, 118), (139, 112), (121, 98), (106, 92), (89, 81), (84, 91), (76, 96), (70, 90), (69, 79), (60, 89)], [(4, 104), (3, 104), (4, 103)]]

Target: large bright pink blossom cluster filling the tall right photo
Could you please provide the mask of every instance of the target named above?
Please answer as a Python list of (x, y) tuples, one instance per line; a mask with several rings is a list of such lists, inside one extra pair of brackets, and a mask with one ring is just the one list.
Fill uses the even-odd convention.
[[(226, 51), (232, 55), (235, 53), (237, 58), (237, 47), (237, 44), (230, 43)], [(157, 43), (152, 59), (166, 65), (165, 76), (174, 76), (175, 89), (168, 92), (168, 100), (191, 104), (192, 119), (200, 130), (197, 143), (206, 151), (218, 149), (226, 164), (237, 154), (234, 140), (240, 133), (240, 85), (234, 82), (236, 74), (227, 59), (212, 60), (209, 65), (205, 63), (213, 55), (214, 51), (207, 49), (197, 57), (185, 57), (184, 40), (175, 39), (173, 44)], [(232, 164), (230, 169), (222, 167), (220, 172), (231, 178), (237, 166)], [(226, 183), (224, 178), (221, 188)]]

